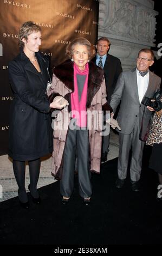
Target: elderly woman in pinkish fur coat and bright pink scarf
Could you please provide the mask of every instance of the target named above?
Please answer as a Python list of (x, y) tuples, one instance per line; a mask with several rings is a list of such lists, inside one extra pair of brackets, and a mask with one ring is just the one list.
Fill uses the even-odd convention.
[(102, 127), (95, 127), (94, 113), (99, 114), (102, 109), (112, 112), (112, 108), (106, 100), (103, 70), (90, 62), (95, 54), (93, 45), (85, 38), (77, 38), (66, 52), (70, 60), (54, 69), (48, 92), (48, 95), (57, 93), (69, 102), (69, 107), (54, 119), (52, 173), (61, 179), (62, 203), (67, 204), (74, 188), (77, 154), (79, 193), (88, 205), (92, 194), (90, 171), (100, 172), (101, 157)]

